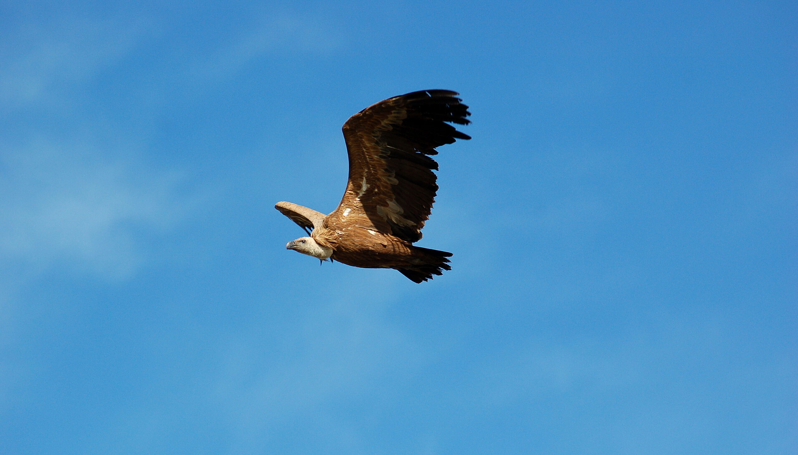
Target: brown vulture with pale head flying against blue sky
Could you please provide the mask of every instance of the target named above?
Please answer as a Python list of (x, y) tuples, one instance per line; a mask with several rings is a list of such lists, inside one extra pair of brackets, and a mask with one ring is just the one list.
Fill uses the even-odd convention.
[[(343, 126), (349, 154), (346, 191), (331, 214), (291, 202), (279, 210), (309, 237), (286, 249), (365, 269), (396, 269), (415, 283), (451, 270), (452, 253), (421, 248), (421, 229), (438, 190), (436, 147), (471, 139), (451, 124), (471, 123), (457, 92), (423, 90), (382, 100)], [(312, 229), (312, 230), (309, 230)]]

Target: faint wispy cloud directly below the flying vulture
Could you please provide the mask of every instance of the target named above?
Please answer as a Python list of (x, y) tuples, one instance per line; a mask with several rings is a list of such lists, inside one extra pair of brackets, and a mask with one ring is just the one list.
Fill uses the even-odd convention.
[(235, 422), (234, 451), (263, 450), (271, 430), (297, 418), (346, 439), (347, 422), (329, 419), (331, 402), (391, 387), (429, 362), (434, 353), (386, 316), (392, 288), (384, 276), (329, 289), (276, 346), (252, 333), (230, 340), (210, 396)]

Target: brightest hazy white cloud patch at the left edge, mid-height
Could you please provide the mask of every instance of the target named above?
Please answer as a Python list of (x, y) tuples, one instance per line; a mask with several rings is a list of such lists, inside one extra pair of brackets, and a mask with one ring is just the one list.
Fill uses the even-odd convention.
[(90, 143), (38, 139), (0, 157), (0, 257), (125, 277), (144, 259), (136, 236), (172, 226), (176, 175), (108, 159)]

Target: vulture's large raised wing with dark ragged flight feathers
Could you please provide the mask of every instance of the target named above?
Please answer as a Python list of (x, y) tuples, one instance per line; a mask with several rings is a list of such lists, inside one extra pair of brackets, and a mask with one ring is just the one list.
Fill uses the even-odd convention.
[(468, 106), (457, 94), (407, 93), (351, 116), (343, 127), (349, 182), (330, 218), (365, 214), (375, 229), (418, 241), (438, 190), (433, 172), (438, 163), (429, 155), (437, 155), (435, 147), (455, 139), (471, 139), (448, 124), (470, 123)]

